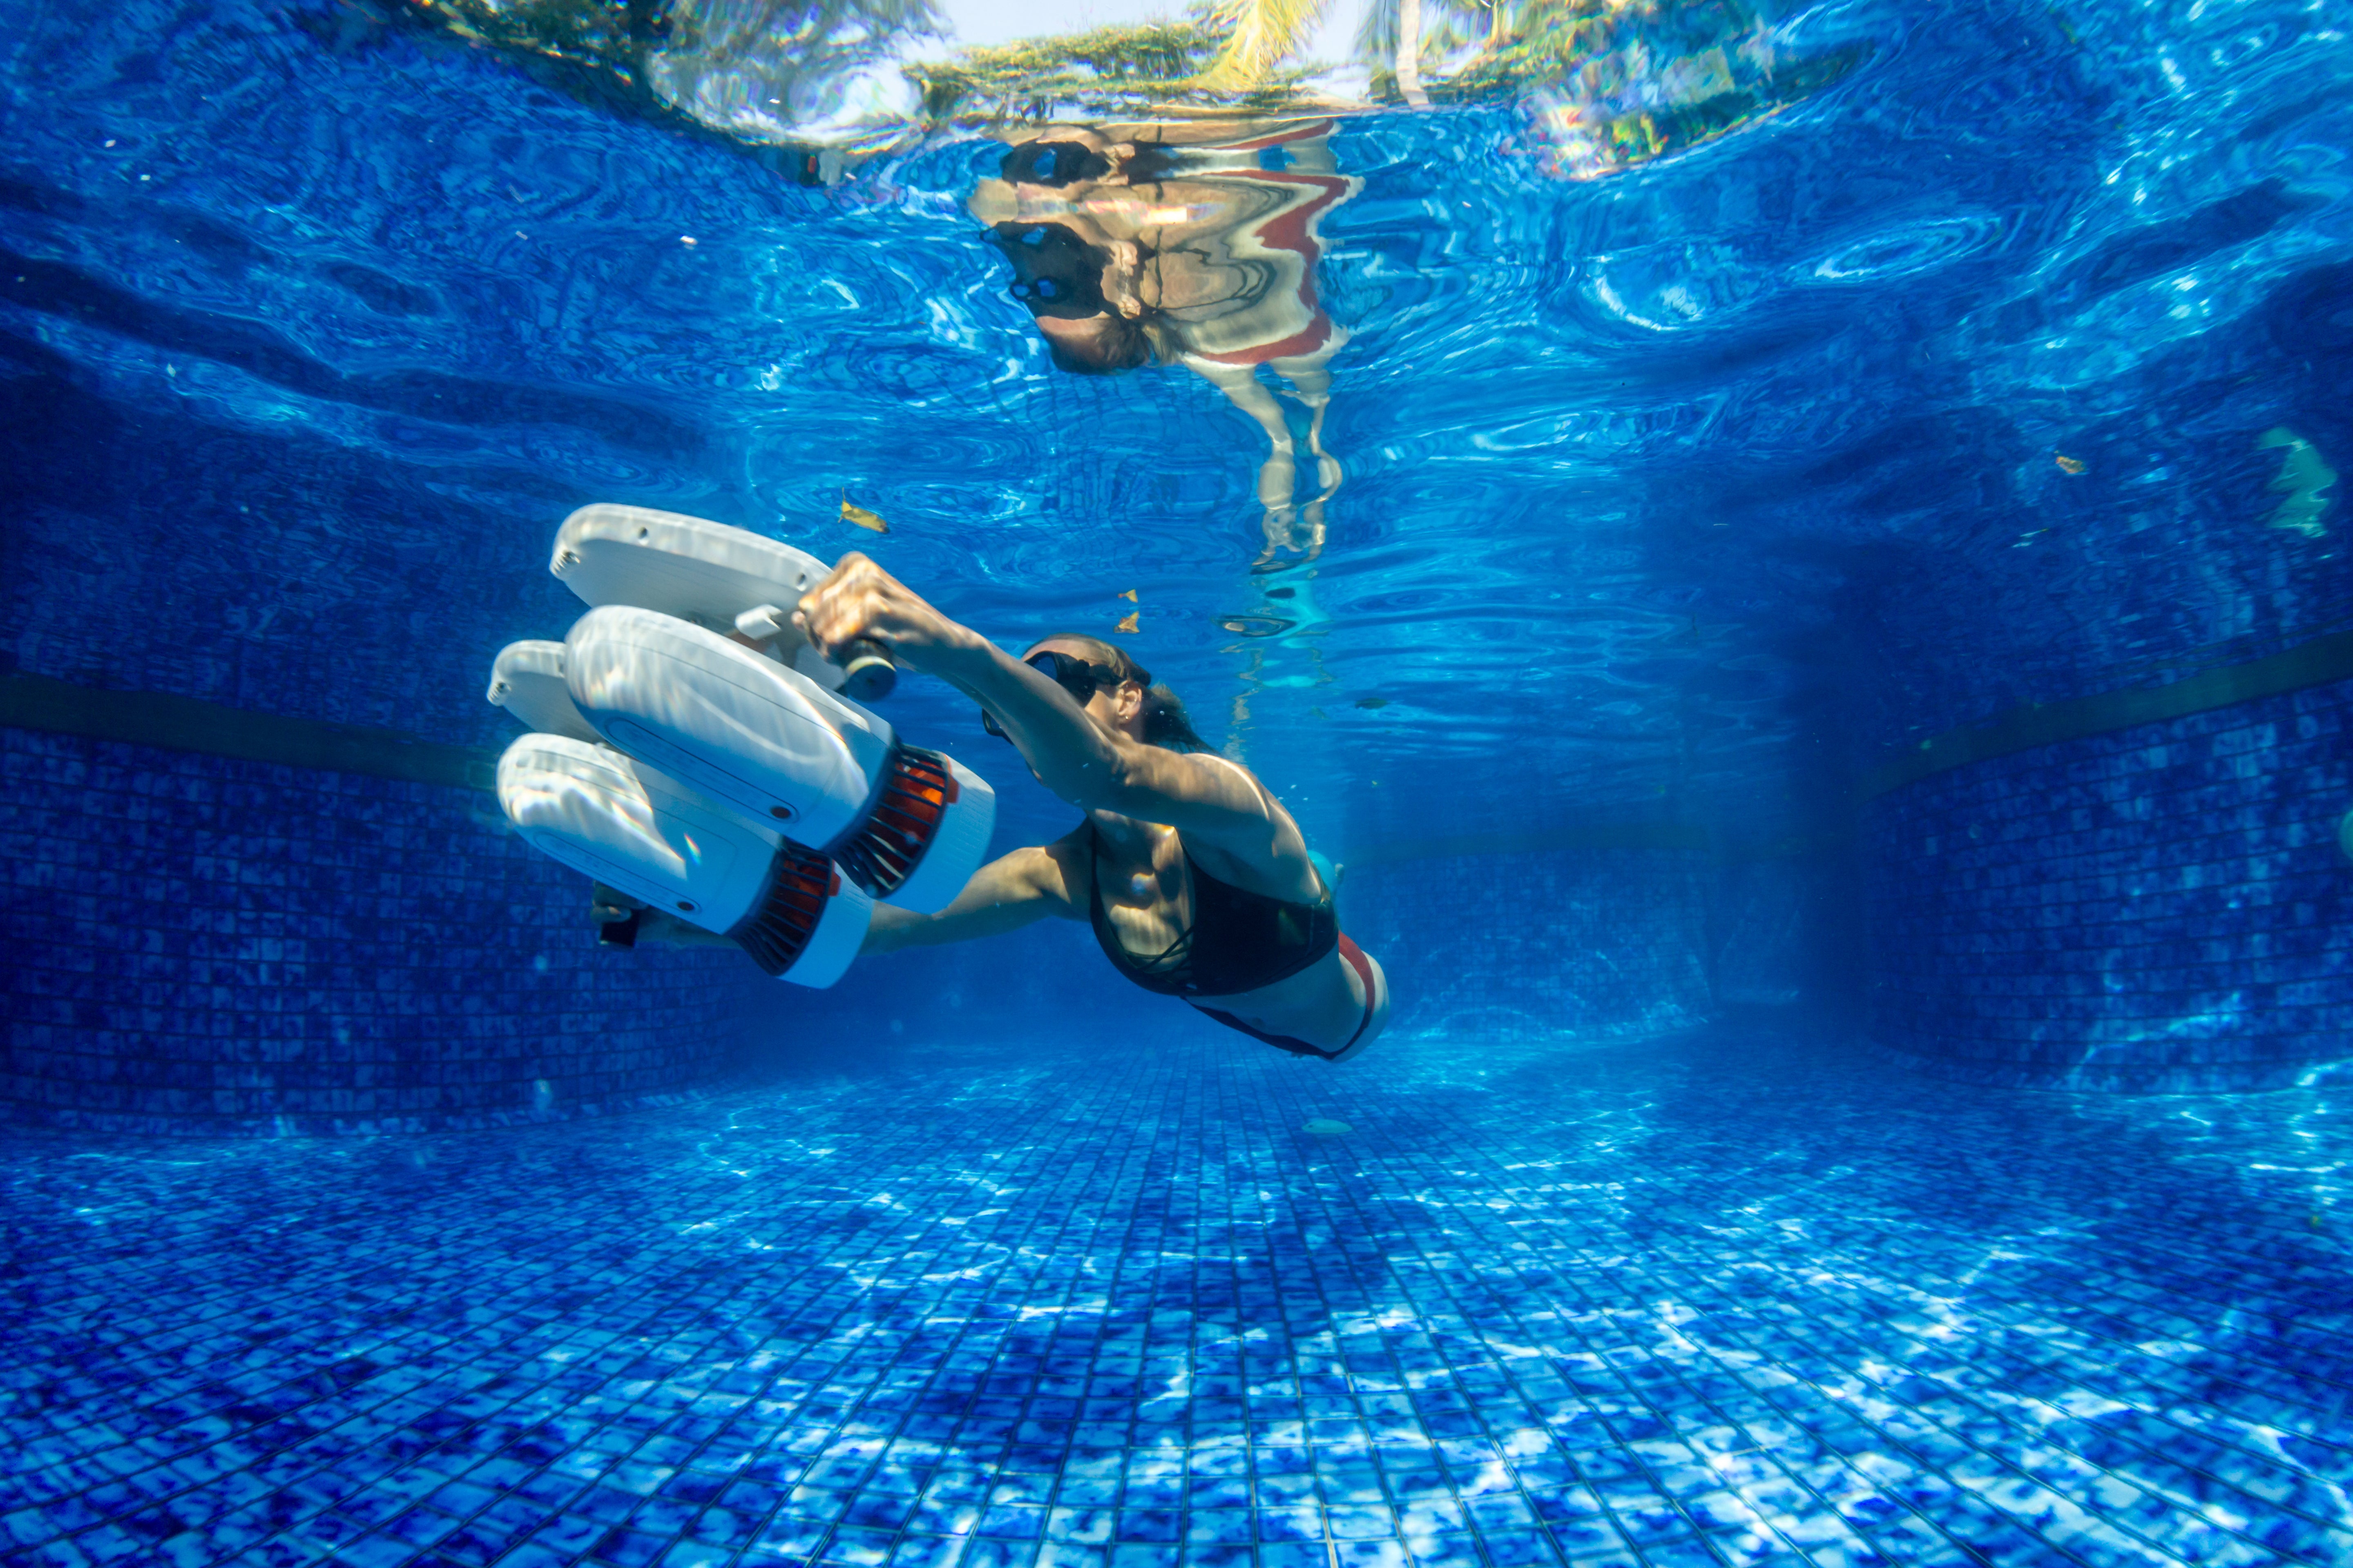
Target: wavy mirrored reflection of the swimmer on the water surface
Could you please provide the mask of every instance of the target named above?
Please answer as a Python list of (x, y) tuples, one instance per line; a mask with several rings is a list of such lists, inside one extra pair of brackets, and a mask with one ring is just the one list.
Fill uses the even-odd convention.
[[(1002, 179), (972, 195), (1054, 364), (1092, 376), (1184, 364), (1266, 433), (1266, 557), (1318, 555), (1341, 484), (1322, 421), (1348, 331), (1315, 294), (1318, 223), (1360, 181), (1337, 172), (1329, 134), (1329, 120), (1059, 125), (1012, 146)], [(1297, 437), (1261, 364), (1308, 409), (1315, 496), (1304, 505)]]

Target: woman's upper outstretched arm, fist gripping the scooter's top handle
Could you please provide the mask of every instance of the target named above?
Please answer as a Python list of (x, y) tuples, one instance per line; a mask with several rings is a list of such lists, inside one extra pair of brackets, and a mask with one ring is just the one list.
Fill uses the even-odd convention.
[[(1165, 823), (1254, 860), (1273, 856), (1287, 830), (1289, 818), (1245, 769), (1104, 729), (1042, 672), (946, 618), (856, 550), (802, 595), (793, 623), (819, 654), (875, 637), (901, 665), (941, 677), (995, 715), (1038, 783), (1080, 811)], [(1141, 698), (1134, 686), (1120, 696)]]

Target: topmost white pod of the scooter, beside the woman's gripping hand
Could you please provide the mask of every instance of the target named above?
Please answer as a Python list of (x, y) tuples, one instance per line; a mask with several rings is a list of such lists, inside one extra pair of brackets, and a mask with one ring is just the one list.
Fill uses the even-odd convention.
[(755, 642), (776, 639), (776, 658), (826, 691), (840, 691), (849, 675), (793, 630), (800, 595), (833, 569), (781, 538), (600, 501), (555, 529), (548, 571), (591, 609), (659, 609), (715, 632), (734, 628)]

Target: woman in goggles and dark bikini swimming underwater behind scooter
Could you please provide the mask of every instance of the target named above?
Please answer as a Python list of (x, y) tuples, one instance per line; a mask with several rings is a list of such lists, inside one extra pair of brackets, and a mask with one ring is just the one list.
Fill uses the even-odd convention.
[[(1341, 1063), (1379, 1037), (1388, 980), (1341, 936), (1299, 825), (1249, 769), (1207, 752), (1125, 651), (1056, 635), (1016, 661), (856, 552), (800, 597), (793, 625), (828, 658), (873, 639), (946, 679), (1087, 813), (979, 867), (936, 914), (878, 903), (861, 957), (1085, 919), (1122, 976), (1271, 1046)], [(732, 945), (666, 912), (638, 919), (649, 940)]]

